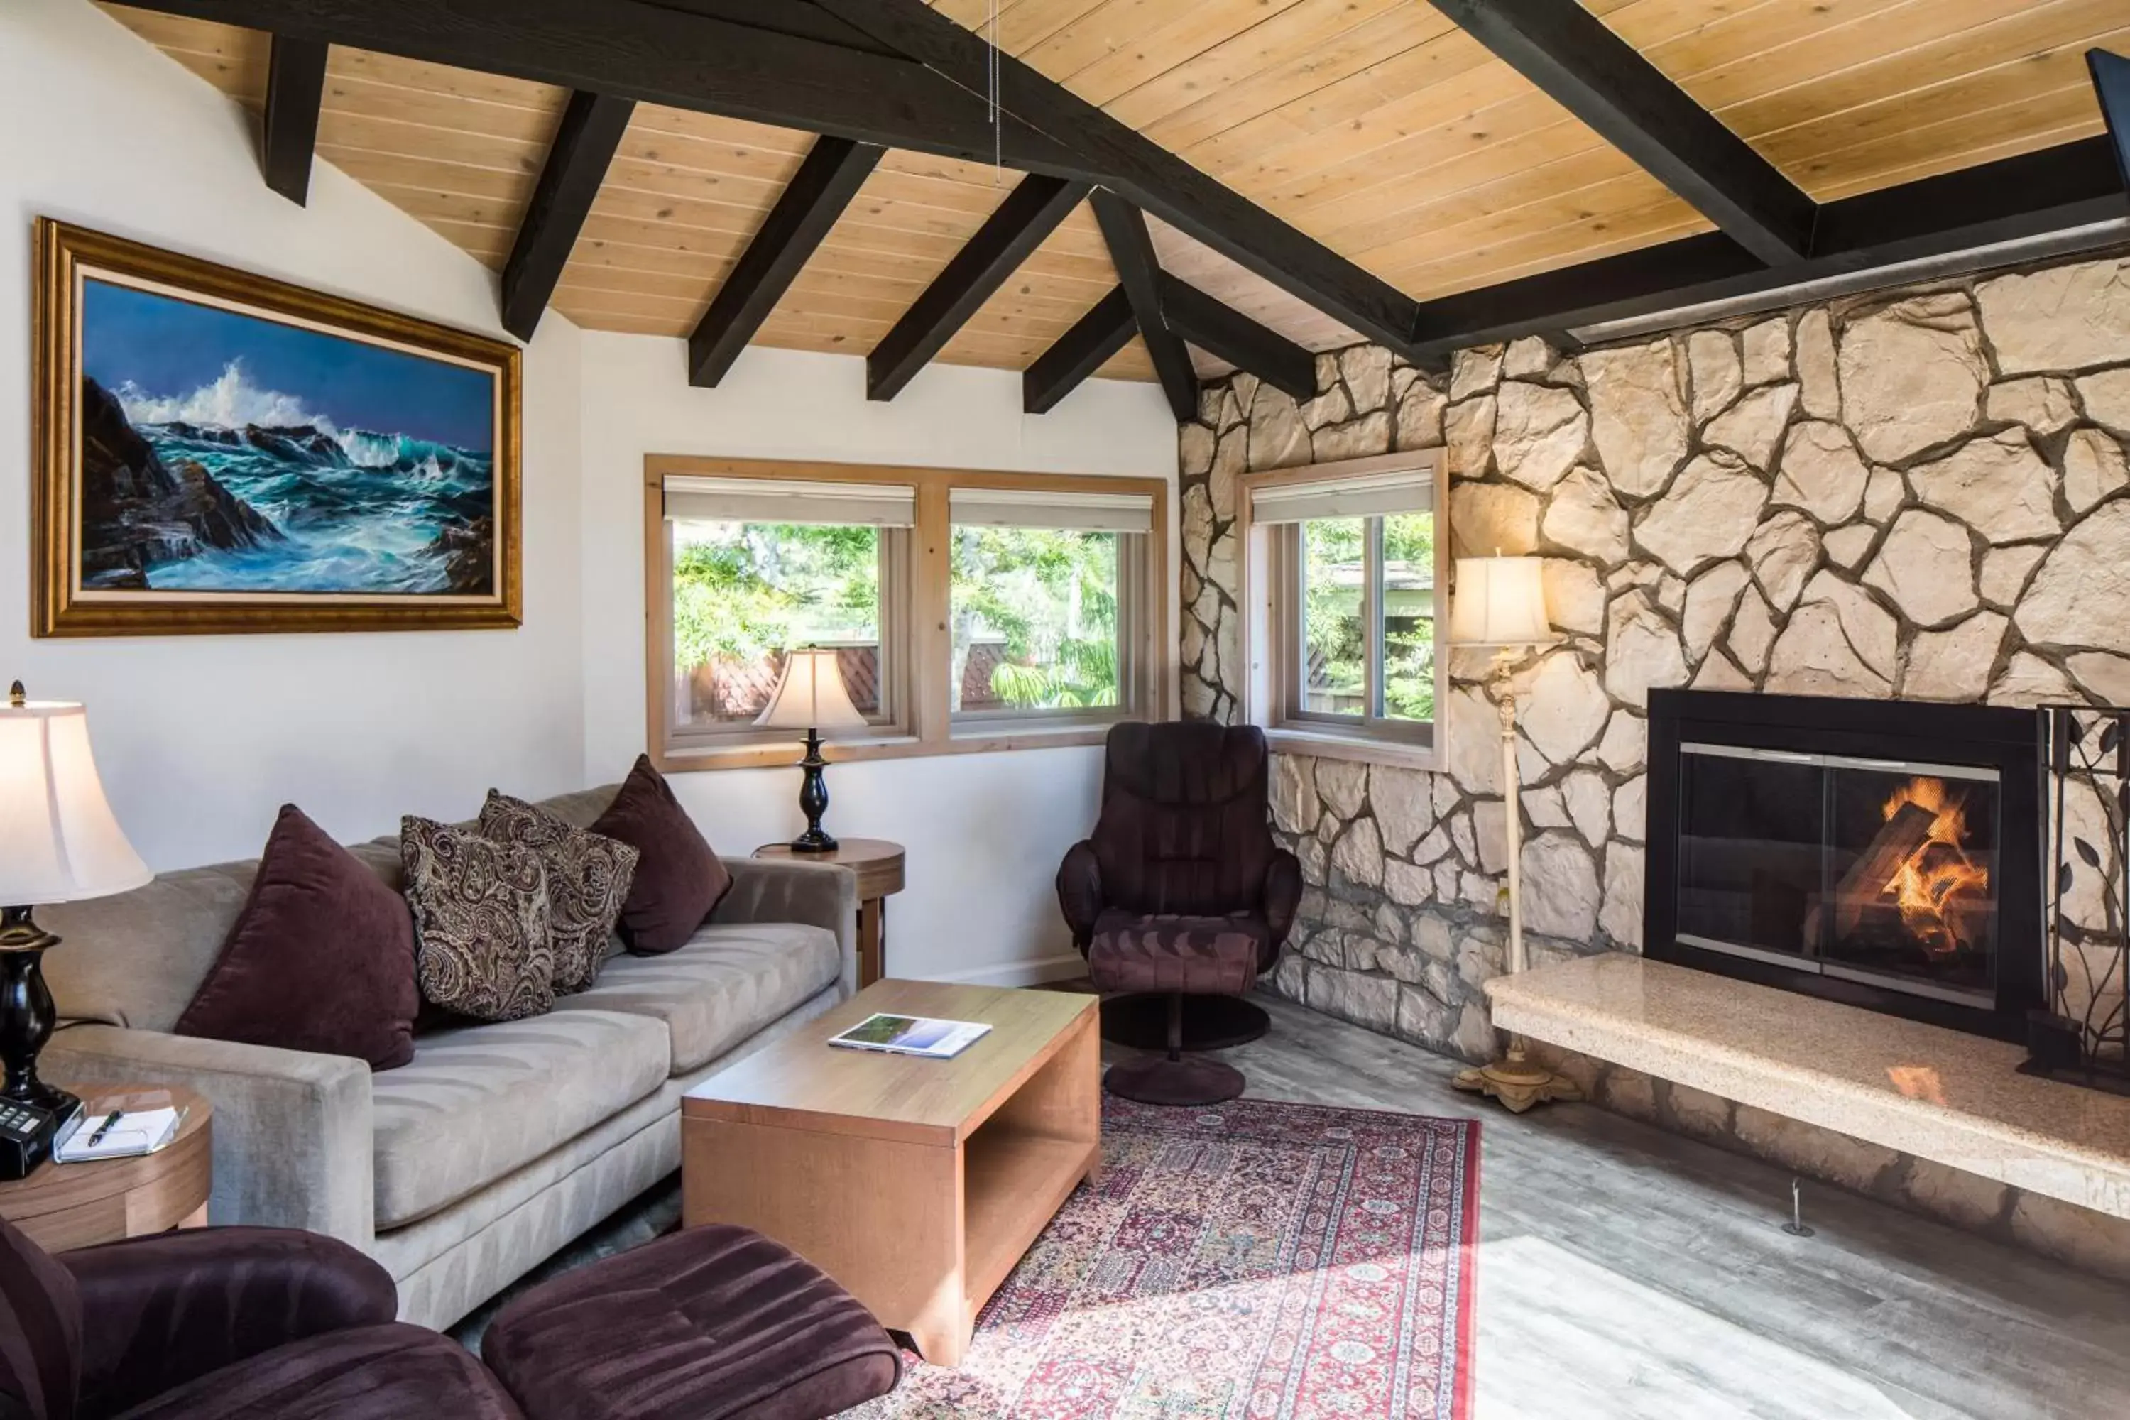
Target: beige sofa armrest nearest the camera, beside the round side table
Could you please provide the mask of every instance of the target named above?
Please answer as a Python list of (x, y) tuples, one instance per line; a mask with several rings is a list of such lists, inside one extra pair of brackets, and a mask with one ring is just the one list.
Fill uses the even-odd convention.
[(68, 1026), (38, 1069), (62, 1084), (181, 1084), (215, 1107), (213, 1222), (375, 1241), (371, 1067), (162, 1030)]

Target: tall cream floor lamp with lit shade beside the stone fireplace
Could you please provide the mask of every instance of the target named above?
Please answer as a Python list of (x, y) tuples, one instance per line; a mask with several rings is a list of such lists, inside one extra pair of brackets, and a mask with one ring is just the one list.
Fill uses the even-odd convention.
[[(1502, 815), (1508, 832), (1508, 973), (1523, 956), (1523, 807), (1517, 792), (1517, 651), (1559, 641), (1546, 620), (1544, 562), (1540, 558), (1457, 558), (1457, 596), (1451, 602), (1451, 645), (1493, 649), (1493, 700), (1502, 711)], [(1549, 1099), (1583, 1099), (1574, 1081), (1529, 1058), (1521, 1035), (1510, 1033), (1508, 1054), (1493, 1064), (1459, 1071), (1459, 1090), (1476, 1090), (1523, 1113)]]

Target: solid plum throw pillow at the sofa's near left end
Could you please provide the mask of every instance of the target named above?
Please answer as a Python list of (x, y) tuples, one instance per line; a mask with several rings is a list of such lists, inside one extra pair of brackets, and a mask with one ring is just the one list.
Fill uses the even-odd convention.
[(177, 1035), (413, 1060), (413, 918), (362, 860), (283, 805), (236, 915)]

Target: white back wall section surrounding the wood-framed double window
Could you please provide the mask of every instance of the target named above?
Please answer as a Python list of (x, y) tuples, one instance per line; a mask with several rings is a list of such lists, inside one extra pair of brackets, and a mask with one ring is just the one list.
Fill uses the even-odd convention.
[[(1018, 375), (935, 364), (873, 404), (854, 356), (750, 349), (720, 387), (692, 390), (684, 349), (584, 332), (592, 779), (620, 777), (643, 752), (645, 453), (1114, 473), (1174, 485), (1176, 419), (1157, 385), (1088, 381), (1052, 413), (1022, 415)], [(705, 771), (673, 786), (718, 852), (746, 854), (805, 826), (794, 769)], [(1076, 971), (1052, 877), (1093, 826), (1099, 786), (1099, 747), (829, 769), (829, 830), (910, 849), (907, 888), (888, 901), (888, 969), (993, 984)]]

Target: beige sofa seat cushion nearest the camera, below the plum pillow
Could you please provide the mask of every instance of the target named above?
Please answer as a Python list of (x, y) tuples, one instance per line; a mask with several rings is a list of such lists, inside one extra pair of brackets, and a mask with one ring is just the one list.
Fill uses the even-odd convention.
[(648, 1016), (552, 1011), (439, 1030), (373, 1086), (377, 1228), (449, 1207), (637, 1103), (671, 1073)]

